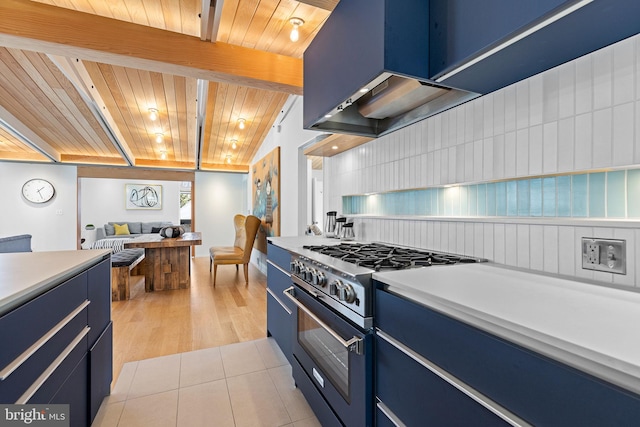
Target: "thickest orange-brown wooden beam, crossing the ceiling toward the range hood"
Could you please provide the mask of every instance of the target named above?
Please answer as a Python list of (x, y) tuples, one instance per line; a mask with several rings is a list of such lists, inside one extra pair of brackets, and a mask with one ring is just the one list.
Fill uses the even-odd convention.
[(302, 60), (28, 0), (0, 2), (0, 45), (302, 94)]

